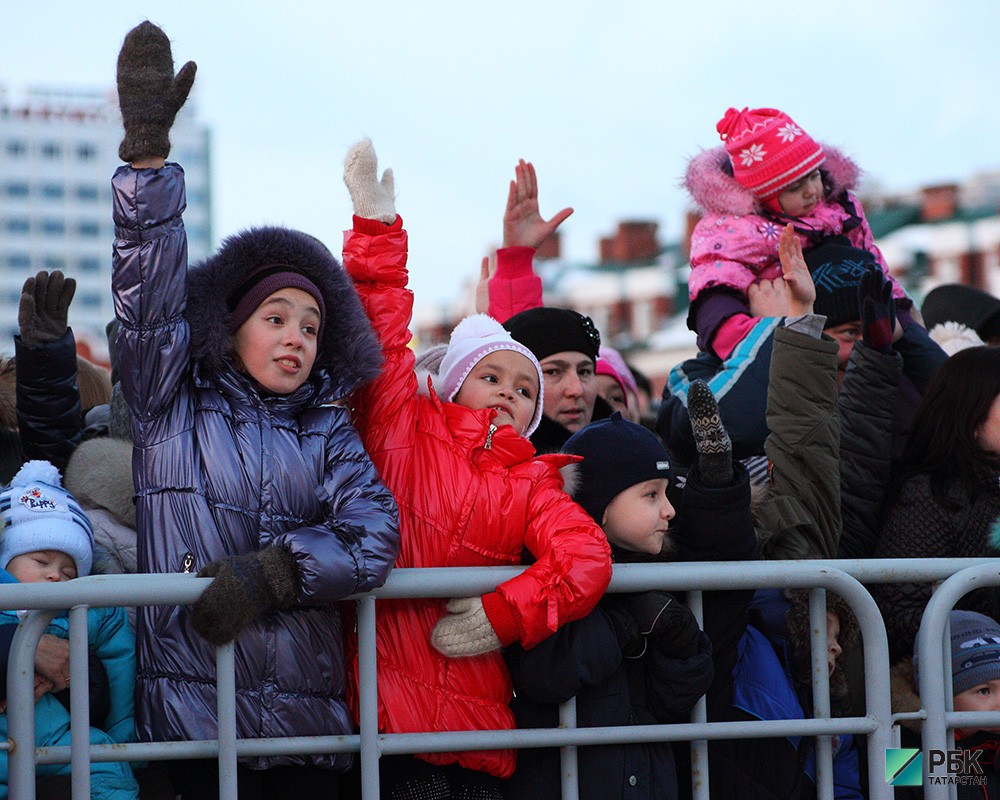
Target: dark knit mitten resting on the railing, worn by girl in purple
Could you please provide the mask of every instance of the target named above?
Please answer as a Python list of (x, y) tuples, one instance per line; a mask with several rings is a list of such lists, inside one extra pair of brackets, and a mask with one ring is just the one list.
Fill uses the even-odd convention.
[(295, 556), (278, 547), (213, 561), (199, 578), (214, 578), (191, 610), (191, 625), (212, 644), (231, 642), (269, 611), (284, 611), (299, 596)]

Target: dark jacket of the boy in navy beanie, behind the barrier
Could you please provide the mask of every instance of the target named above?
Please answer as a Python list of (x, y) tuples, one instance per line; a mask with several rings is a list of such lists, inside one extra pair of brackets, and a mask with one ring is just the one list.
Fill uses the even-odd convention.
[[(518, 728), (554, 728), (559, 704), (576, 696), (581, 728), (687, 722), (712, 680), (708, 637), (698, 634), (686, 652), (649, 637), (637, 658), (623, 658), (605, 608), (623, 599), (606, 596), (589, 615), (561, 627), (531, 650), (507, 648), (514, 682), (511, 703)], [(579, 749), (581, 800), (673, 800), (677, 774), (668, 742), (602, 745)], [(517, 769), (504, 786), (514, 800), (560, 796), (558, 748), (518, 753)]]

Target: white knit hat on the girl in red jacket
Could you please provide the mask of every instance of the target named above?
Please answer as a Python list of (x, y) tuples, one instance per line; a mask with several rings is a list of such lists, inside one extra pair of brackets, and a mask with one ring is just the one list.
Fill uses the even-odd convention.
[(542, 420), (544, 378), (542, 368), (534, 353), (504, 330), (503, 326), (486, 314), (466, 317), (451, 332), (448, 350), (438, 367), (441, 395), (445, 400), (454, 400), (473, 367), (483, 358), (497, 350), (511, 350), (520, 353), (535, 368), (538, 375), (538, 395), (535, 398), (535, 413), (531, 417), (524, 436), (531, 436)]

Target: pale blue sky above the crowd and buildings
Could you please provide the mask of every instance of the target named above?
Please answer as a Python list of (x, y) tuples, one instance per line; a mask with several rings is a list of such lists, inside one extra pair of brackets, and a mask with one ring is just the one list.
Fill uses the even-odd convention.
[(343, 157), (370, 136), (423, 303), (498, 242), (520, 157), (543, 214), (576, 209), (568, 257), (626, 217), (677, 238), (685, 164), (730, 105), (781, 108), (891, 189), (1000, 168), (995, 0), (31, 3), (0, 26), (0, 82), (110, 86), (145, 18), (199, 65), (217, 235), (285, 224), (338, 250)]

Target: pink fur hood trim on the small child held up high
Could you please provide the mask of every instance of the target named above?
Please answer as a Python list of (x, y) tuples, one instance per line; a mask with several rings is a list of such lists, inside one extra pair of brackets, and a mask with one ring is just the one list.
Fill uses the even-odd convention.
[[(831, 196), (837, 197), (845, 189), (857, 186), (861, 170), (850, 158), (835, 147), (823, 145), (826, 161), (820, 167), (826, 173), (831, 188)], [(703, 150), (688, 162), (683, 185), (691, 194), (691, 199), (709, 214), (759, 214), (763, 210), (760, 202), (744, 189), (737, 180), (725, 172), (729, 154), (722, 145)]]

